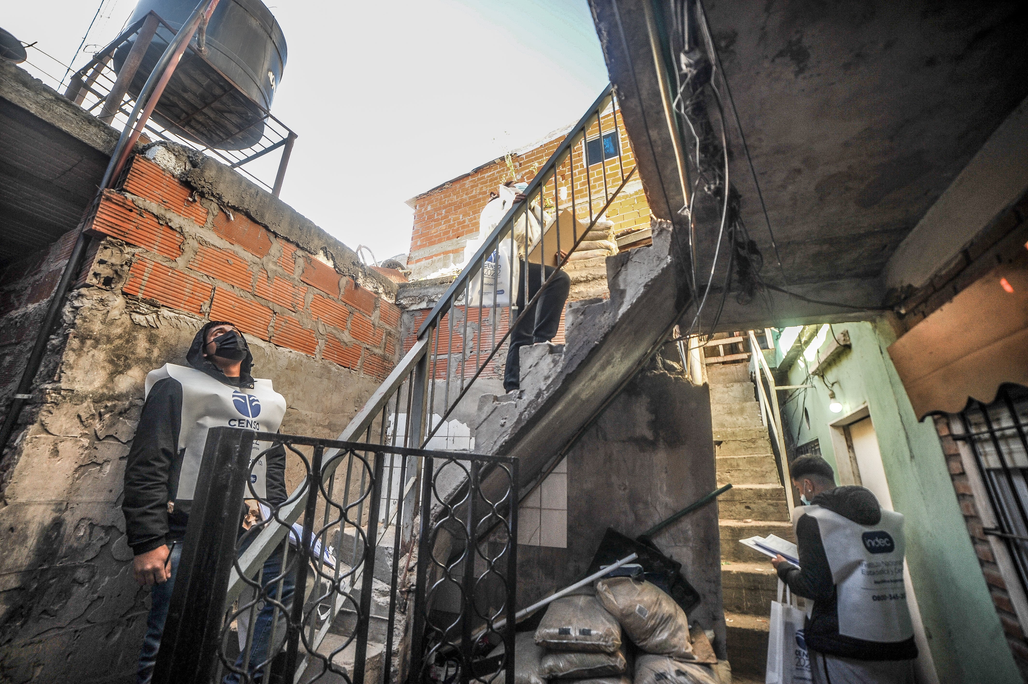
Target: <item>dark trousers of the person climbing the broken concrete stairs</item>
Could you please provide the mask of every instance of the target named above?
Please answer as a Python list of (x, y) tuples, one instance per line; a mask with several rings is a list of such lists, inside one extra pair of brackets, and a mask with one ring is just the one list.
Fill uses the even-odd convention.
[[(557, 271), (553, 266), (544, 266), (539, 263), (528, 264), (528, 299), (530, 301), (542, 285), (541, 281)], [(518, 312), (524, 311), (524, 261), (520, 262), (520, 286), (517, 291)], [(521, 357), (519, 350), (525, 345), (537, 345), (539, 343), (550, 341), (553, 335), (557, 334), (560, 327), (560, 314), (564, 311), (564, 302), (567, 301), (567, 292), (572, 288), (572, 279), (563, 271), (550, 281), (549, 285), (543, 288), (543, 293), (531, 308), (531, 311), (514, 326), (510, 337), (510, 351), (507, 352), (507, 370), (504, 372), (504, 390), (510, 392), (516, 390), (521, 382)]]

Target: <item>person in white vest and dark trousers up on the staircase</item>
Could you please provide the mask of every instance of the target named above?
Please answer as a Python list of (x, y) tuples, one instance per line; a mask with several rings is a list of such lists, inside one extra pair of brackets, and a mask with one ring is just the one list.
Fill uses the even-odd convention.
[[(525, 183), (515, 184), (508, 181), (499, 186), (495, 196), (485, 205), (479, 217), (478, 237), (465, 246), (465, 262), (469, 262), (482, 243), (492, 233), (500, 221), (514, 205), (524, 202)], [(571, 291), (571, 278), (562, 271), (541, 263), (525, 264), (525, 255), (531, 252), (543, 232), (553, 223), (553, 217), (548, 212), (533, 203), (528, 211), (514, 222), (512, 229), (516, 246), (517, 267), (514, 267), (515, 254), (511, 249), (511, 236), (507, 235), (500, 241), (483, 264), (483, 274), (471, 279), (468, 288), (469, 307), (507, 307), (511, 302), (518, 312), (524, 311), (525, 303), (530, 301), (540, 291), (543, 283), (553, 276), (553, 279), (543, 289), (533, 311), (521, 320), (511, 331), (510, 347), (507, 352), (507, 367), (504, 372), (504, 390), (511, 392), (520, 386), (521, 359), (520, 349), (525, 345), (539, 344), (553, 339), (560, 326), (560, 314), (563, 312), (567, 293)], [(561, 254), (561, 258), (564, 255)], [(556, 275), (554, 276), (554, 272)], [(527, 299), (525, 298), (525, 279), (527, 278)], [(516, 294), (512, 297), (511, 293)], [(514, 314), (512, 313), (512, 316)]]

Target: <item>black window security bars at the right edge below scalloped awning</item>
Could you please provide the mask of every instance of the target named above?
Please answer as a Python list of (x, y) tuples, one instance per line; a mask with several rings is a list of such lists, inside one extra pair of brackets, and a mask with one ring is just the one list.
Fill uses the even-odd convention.
[(1003, 385), (995, 401), (972, 400), (953, 419), (963, 428), (953, 438), (970, 447), (997, 523), (985, 533), (1003, 540), (1028, 589), (1028, 388)]

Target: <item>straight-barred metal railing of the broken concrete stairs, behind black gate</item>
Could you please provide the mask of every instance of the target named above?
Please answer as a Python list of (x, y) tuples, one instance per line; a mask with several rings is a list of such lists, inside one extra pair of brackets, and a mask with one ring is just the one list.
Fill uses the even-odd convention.
[[(424, 448), (429, 443), (461, 399), (468, 394), (474, 382), (493, 363), (514, 326), (524, 317), (535, 315), (534, 308), (539, 299), (539, 293), (533, 297), (527, 296), (529, 287), (527, 266), (529, 263), (536, 263), (534, 255), (538, 253), (539, 263), (544, 264), (547, 242), (555, 241), (550, 242), (550, 246), (556, 247), (558, 254), (560, 251), (566, 252), (566, 256), (558, 256), (555, 269), (563, 268), (571, 260), (571, 253), (582, 244), (586, 235), (603, 217), (614, 200), (634, 176), (634, 163), (632, 158), (626, 159), (622, 151), (621, 132), (616, 96), (613, 87), (608, 85), (557, 146), (549, 160), (539, 169), (535, 179), (523, 192), (526, 200), (516, 203), (485, 238), (481, 247), (421, 323), (413, 347), (350, 422), (339, 435), (338, 441), (415, 448)], [(605, 147), (607, 137), (612, 133), (617, 144), (611, 145), (609, 149)], [(597, 149), (595, 145), (597, 140), (600, 158), (594, 159), (593, 154), (589, 152), (589, 145), (593, 143), (593, 149)], [(550, 209), (553, 210), (553, 218), (549, 218)], [(554, 218), (558, 212), (565, 210), (570, 210), (570, 217), (574, 217), (572, 241), (571, 244), (565, 243), (561, 246), (560, 229), (563, 223), (557, 223)], [(519, 221), (527, 222), (528, 211), (531, 211), (537, 219), (542, 219), (541, 223), (544, 225), (538, 244), (526, 245), (523, 250), (524, 255), (518, 258), (519, 267), (522, 267), (526, 275), (520, 279), (520, 286), (524, 288), (524, 299), (527, 303), (518, 313), (513, 324), (508, 325), (505, 331), (501, 331), (503, 324), (511, 322), (514, 313), (517, 312), (514, 302), (508, 301), (504, 305), (499, 305), (494, 295), (489, 301), (480, 294), (477, 301), (473, 300), (471, 305), (468, 305), (469, 294), (476, 278), (479, 280), (479, 292), (484, 292), (485, 288), (481, 287), (484, 284), (484, 266), (493, 257), (502, 241), (510, 240), (511, 253), (518, 254), (515, 229)], [(551, 226), (556, 229), (552, 230), (553, 235), (548, 235)], [(545, 271), (541, 269), (544, 275)], [(552, 281), (556, 271), (542, 280), (540, 291)], [(513, 299), (513, 296), (508, 298)], [(457, 315), (461, 318), (458, 322), (454, 320)], [(461, 348), (454, 353), (455, 328), (458, 330)], [(468, 341), (469, 329), (475, 337), (473, 345)], [(489, 339), (483, 344), (486, 335)], [(437, 385), (441, 386), (443, 393), (442, 410), (439, 415), (433, 411), (439, 400), (436, 396)], [(324, 460), (327, 465), (322, 475), (325, 481), (329, 481), (340, 463), (340, 460), (333, 456), (331, 449), (326, 451)], [(391, 520), (391, 511), (393, 514), (398, 508), (405, 511), (406, 519), (395, 521), (395, 534), (400, 536), (397, 540), (398, 547), (407, 545), (411, 541), (411, 516), (416, 508), (412, 504), (423, 489), (423, 472), (415, 464), (411, 465), (413, 467), (407, 468), (406, 472), (412, 479), (400, 483), (398, 489), (401, 494), (396, 498), (392, 496), (394, 488), (387, 490), (390, 496), (383, 499), (383, 511), (379, 515), (379, 519)], [(299, 519), (303, 513), (306, 498), (306, 494), (291, 493), (289, 503), (278, 510), (277, 519), (282, 524), (265, 528), (240, 555), (236, 567), (242, 570), (242, 575), (255, 577), (260, 572), (264, 562), (285, 538), (288, 526)], [(402, 505), (400, 499), (403, 500)], [(389, 527), (389, 525), (382, 526), (382, 536)], [(233, 568), (228, 583), (226, 605), (238, 599), (246, 586), (246, 580)], [(337, 610), (333, 608), (332, 618), (335, 612)], [(313, 650), (318, 648), (324, 636), (325, 632), (314, 635)], [(301, 663), (300, 672), (302, 668)]]

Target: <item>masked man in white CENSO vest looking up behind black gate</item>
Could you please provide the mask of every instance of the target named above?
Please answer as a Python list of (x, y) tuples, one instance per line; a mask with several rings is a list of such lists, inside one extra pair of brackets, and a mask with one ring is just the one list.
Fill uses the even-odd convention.
[[(250, 374), (253, 356), (231, 323), (211, 321), (205, 325), (196, 333), (186, 361), (189, 367), (169, 363), (147, 374), (146, 402), (125, 466), (121, 510), (135, 553), (133, 571), (140, 584), (151, 587), (137, 670), (139, 684), (146, 684), (153, 675), (207, 431), (228, 426), (277, 432), (286, 410), (286, 401), (274, 392), (271, 382)], [(257, 501), (273, 508), (287, 498), (286, 453), (282, 446), (270, 446), (254, 442), (245, 495), (249, 501), (244, 513), (250, 512), (247, 520), (253, 520), (255, 512), (260, 517)], [(254, 538), (254, 534), (246, 536), (241, 552)], [(280, 598), (272, 579), (281, 573), (282, 553), (277, 550), (265, 562), (262, 577), (267, 595), (288, 604), (293, 576), (289, 573), (285, 577)], [(256, 682), (261, 681), (258, 669), (268, 657), (272, 613), (273, 607), (265, 605), (254, 623), (249, 671)], [(243, 669), (242, 655), (236, 669)], [(234, 684), (238, 675), (230, 673), (224, 681)]]

